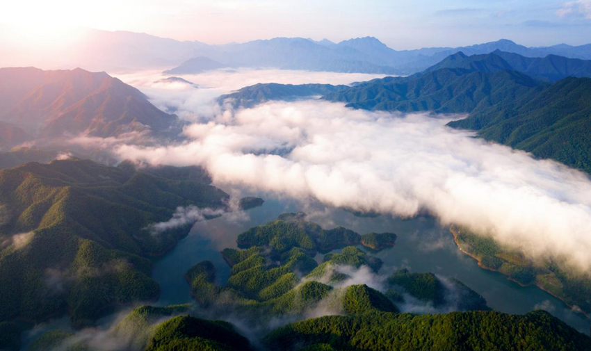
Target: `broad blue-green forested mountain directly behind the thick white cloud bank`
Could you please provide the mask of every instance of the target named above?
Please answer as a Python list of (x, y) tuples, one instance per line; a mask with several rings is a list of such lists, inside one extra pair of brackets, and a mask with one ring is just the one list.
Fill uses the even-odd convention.
[(373, 111), (469, 113), (524, 95), (539, 85), (531, 77), (514, 71), (444, 68), (408, 77), (373, 79), (329, 93), (323, 99)]

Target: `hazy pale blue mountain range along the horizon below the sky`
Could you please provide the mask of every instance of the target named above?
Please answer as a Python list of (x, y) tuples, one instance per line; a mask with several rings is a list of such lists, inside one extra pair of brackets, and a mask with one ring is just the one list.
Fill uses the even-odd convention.
[[(75, 47), (75, 50), (72, 50)], [(130, 49), (133, 48), (133, 49)], [(591, 59), (591, 44), (525, 47), (511, 40), (498, 40), (467, 47), (428, 47), (395, 50), (377, 38), (364, 37), (335, 43), (305, 38), (273, 38), (243, 43), (205, 44), (159, 38), (145, 33), (88, 29), (78, 41), (56, 48), (51, 58), (37, 59), (42, 53), (22, 54), (20, 47), (0, 48), (0, 66), (85, 67), (88, 70), (122, 71), (177, 67), (191, 58), (205, 57), (230, 67), (275, 67), (284, 69), (378, 74), (414, 74), (426, 70), (451, 54), (489, 54), (495, 50), (544, 58), (550, 54), (567, 58)], [(24, 57), (10, 62), (10, 57)], [(25, 62), (26, 61), (26, 62)]]

